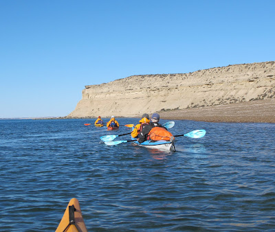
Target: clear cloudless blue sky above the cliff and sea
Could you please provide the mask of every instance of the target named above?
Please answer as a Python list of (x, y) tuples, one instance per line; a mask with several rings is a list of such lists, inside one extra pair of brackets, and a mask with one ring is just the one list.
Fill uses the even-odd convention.
[(132, 75), (275, 60), (274, 9), (274, 0), (0, 0), (0, 118), (66, 116), (85, 85)]

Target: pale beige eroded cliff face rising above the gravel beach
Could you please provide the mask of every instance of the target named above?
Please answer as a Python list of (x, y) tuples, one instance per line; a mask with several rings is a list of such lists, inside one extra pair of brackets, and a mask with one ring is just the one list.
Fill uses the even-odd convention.
[(275, 62), (192, 73), (129, 76), (85, 86), (67, 117), (135, 117), (143, 113), (275, 98)]

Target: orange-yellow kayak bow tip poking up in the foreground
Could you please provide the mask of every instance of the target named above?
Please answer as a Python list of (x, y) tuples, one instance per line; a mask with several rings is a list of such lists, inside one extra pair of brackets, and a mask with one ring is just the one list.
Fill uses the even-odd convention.
[(81, 213), (79, 202), (76, 198), (72, 198), (67, 205), (63, 218), (59, 223), (57, 232), (84, 232), (87, 231), (83, 216)]

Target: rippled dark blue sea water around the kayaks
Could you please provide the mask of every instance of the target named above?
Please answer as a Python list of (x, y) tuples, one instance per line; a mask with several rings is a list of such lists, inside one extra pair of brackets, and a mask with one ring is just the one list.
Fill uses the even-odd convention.
[(71, 198), (89, 231), (275, 230), (274, 124), (175, 121), (173, 135), (206, 136), (169, 153), (106, 146), (100, 136), (129, 128), (85, 123), (0, 120), (1, 231), (54, 231)]

